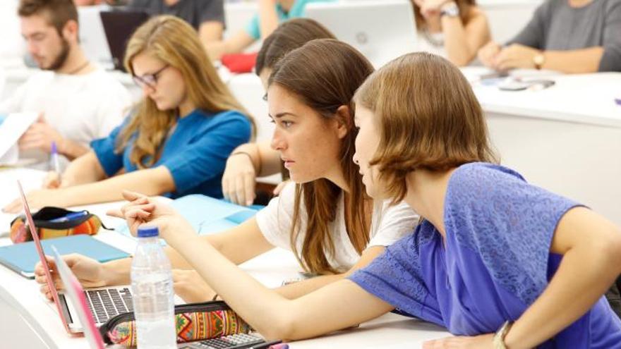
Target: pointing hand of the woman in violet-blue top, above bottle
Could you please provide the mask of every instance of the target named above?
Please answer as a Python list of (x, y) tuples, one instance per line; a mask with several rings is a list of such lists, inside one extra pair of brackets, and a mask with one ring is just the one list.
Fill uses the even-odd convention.
[(172, 207), (138, 192), (123, 190), (123, 197), (129, 203), (121, 209), (106, 212), (109, 216), (125, 219), (129, 231), (135, 236), (138, 227), (146, 224), (159, 228), (159, 237), (167, 240), (168, 235), (193, 233), (191, 224)]

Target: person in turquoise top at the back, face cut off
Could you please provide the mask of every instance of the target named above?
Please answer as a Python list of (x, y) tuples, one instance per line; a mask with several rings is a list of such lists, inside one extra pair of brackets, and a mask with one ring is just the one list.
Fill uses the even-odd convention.
[(219, 60), (224, 54), (237, 54), (259, 39), (265, 39), (276, 28), (290, 18), (304, 16), (304, 7), (311, 2), (334, 0), (258, 0), (259, 11), (241, 30), (228, 39), (207, 45), (207, 54), (212, 60)]

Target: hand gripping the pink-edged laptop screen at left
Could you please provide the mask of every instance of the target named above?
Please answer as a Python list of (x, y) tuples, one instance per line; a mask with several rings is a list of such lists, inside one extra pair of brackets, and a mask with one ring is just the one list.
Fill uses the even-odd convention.
[[(47, 256), (46, 258), (49, 268), (52, 271), (52, 278), (54, 278), (56, 289), (63, 289), (63, 284), (56, 270), (54, 259)], [(77, 253), (64, 255), (63, 259), (85, 288), (107, 286), (107, 280), (109, 280), (107, 269), (105, 269), (104, 265), (100, 262), (83, 255), (78, 255)], [(43, 293), (48, 300), (52, 300), (52, 293), (50, 293), (49, 287), (47, 286), (47, 276), (45, 276), (45, 271), (41, 262), (38, 262), (35, 266), (35, 281), (42, 284), (41, 293)]]

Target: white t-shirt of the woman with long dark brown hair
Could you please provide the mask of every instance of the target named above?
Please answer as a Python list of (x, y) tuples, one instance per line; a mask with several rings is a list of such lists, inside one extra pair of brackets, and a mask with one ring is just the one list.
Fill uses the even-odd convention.
[[(291, 219), (294, 214), (295, 188), (295, 183), (289, 183), (278, 197), (273, 198), (267, 207), (256, 215), (257, 224), (265, 240), (285, 250), (291, 250), (290, 233)], [(358, 262), (360, 255), (351, 244), (345, 228), (343, 195), (339, 197), (336, 217), (337, 219), (328, 224), (334, 241), (335, 255), (327, 254), (327, 260), (332, 268), (344, 272)], [(301, 233), (298, 235), (296, 245), (298, 251), (301, 251), (308, 221), (303, 201), (300, 204), (299, 219)], [(367, 247), (392, 245), (399, 238), (412, 233), (417, 222), (418, 215), (404, 202), (395, 206), (390, 206), (389, 201), (376, 203), (373, 205), (370, 241)]]

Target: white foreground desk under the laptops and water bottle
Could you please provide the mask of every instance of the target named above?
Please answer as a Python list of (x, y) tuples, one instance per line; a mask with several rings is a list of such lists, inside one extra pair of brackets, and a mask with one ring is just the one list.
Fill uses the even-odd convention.
[[(43, 173), (32, 170), (0, 171), (0, 204), (8, 202), (16, 195), (13, 179), (22, 178), (23, 185), (36, 188), (38, 178)], [(28, 178), (28, 181), (25, 179)], [(9, 198), (7, 198), (9, 197)], [(119, 219), (105, 216), (107, 209), (121, 203), (90, 205), (88, 209), (98, 214), (104, 224), (116, 226)], [(111, 245), (128, 252), (133, 252), (133, 240), (113, 232), (96, 235)], [(6, 245), (8, 238), (0, 238), (0, 245)], [(297, 276), (300, 270), (291, 252), (275, 249), (265, 255), (252, 259), (241, 265), (242, 269), (265, 284), (277, 287), (284, 279)], [(330, 314), (327, 314), (330, 316)], [(421, 348), (421, 343), (428, 339), (449, 336), (445, 329), (433, 324), (418, 322), (396, 314), (386, 314), (371, 322), (362, 324), (358, 329), (339, 331), (330, 336), (308, 341), (291, 343), (293, 349), (306, 348)], [(14, 271), (0, 266), (0, 338), (1, 348), (88, 348), (88, 343), (81, 337), (70, 337), (64, 330), (56, 310), (49, 306), (39, 292), (35, 281), (19, 276)]]

